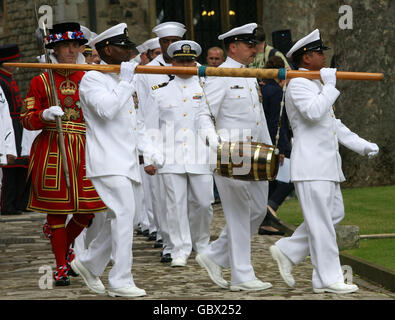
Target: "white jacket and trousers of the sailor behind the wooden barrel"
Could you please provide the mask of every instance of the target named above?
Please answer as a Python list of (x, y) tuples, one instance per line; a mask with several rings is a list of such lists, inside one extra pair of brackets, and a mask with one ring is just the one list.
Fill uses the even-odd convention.
[[(228, 57), (221, 68), (244, 68)], [(259, 100), (258, 83), (253, 78), (208, 78), (207, 100), (223, 141), (252, 141), (272, 144)], [(198, 114), (202, 129), (213, 129), (205, 99)], [(221, 197), (226, 226), (220, 237), (204, 252), (223, 268), (231, 268), (231, 284), (255, 280), (251, 264), (251, 237), (266, 214), (267, 181), (241, 181), (214, 173)]]

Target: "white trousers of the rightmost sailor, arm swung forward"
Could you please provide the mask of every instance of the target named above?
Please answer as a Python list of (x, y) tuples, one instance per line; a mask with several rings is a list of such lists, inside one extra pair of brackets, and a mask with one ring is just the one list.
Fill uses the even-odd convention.
[(320, 289), (344, 282), (336, 243), (335, 226), (344, 217), (340, 184), (332, 181), (294, 182), (304, 222), (291, 237), (276, 246), (294, 263), (310, 255), (313, 287)]

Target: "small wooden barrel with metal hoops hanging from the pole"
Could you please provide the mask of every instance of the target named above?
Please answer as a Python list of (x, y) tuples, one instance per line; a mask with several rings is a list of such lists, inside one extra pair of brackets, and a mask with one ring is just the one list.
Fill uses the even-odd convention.
[(245, 181), (276, 178), (279, 155), (275, 146), (259, 142), (221, 142), (217, 150), (218, 175)]

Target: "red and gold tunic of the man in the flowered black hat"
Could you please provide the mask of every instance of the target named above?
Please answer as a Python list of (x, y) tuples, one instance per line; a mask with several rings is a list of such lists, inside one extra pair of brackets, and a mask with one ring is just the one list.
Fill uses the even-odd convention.
[(54, 78), (62, 107), (63, 135), (70, 173), (70, 189), (66, 186), (58, 133), (54, 121), (46, 121), (42, 113), (50, 107), (48, 73), (30, 83), (21, 113), (23, 126), (42, 132), (33, 142), (28, 175), (32, 179), (28, 208), (33, 211), (69, 214), (93, 213), (106, 210), (92, 182), (86, 178), (85, 120), (79, 99), (79, 83), (84, 72), (57, 70)]

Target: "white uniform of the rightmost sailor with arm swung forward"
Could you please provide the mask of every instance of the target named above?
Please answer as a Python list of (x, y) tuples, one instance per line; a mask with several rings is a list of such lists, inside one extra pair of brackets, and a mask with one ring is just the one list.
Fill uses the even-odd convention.
[(339, 143), (360, 155), (378, 151), (377, 145), (358, 137), (336, 119), (332, 106), (339, 94), (334, 85), (305, 78), (291, 79), (285, 94), (294, 135), (291, 181), (304, 222), (276, 246), (294, 264), (310, 255), (315, 289), (344, 283), (335, 232), (344, 217), (340, 183), (345, 178)]

